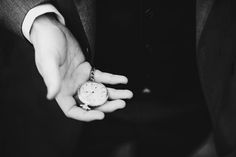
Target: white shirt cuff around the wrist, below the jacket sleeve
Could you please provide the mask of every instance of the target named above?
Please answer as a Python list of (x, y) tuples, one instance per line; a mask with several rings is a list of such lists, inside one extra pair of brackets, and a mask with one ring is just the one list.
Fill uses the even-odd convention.
[(34, 23), (34, 20), (43, 14), (46, 13), (55, 13), (57, 15), (58, 20), (65, 25), (64, 17), (58, 12), (58, 10), (51, 4), (42, 4), (32, 8), (25, 16), (24, 21), (22, 23), (22, 33), (25, 38), (30, 41), (30, 30)]

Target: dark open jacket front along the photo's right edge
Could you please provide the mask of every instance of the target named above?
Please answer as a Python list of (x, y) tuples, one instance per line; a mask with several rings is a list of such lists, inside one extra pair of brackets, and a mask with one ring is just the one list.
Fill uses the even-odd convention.
[(201, 82), (220, 157), (236, 155), (235, 7), (233, 0), (215, 1), (197, 52)]

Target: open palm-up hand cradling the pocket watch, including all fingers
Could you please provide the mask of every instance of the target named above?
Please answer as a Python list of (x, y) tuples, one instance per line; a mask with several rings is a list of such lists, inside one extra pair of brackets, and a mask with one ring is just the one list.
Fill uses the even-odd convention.
[[(35, 49), (37, 69), (47, 87), (47, 98), (55, 98), (67, 117), (92, 121), (104, 118), (104, 113), (125, 107), (125, 101), (132, 97), (130, 90), (109, 88), (111, 101), (85, 111), (76, 105), (73, 95), (88, 80), (91, 65), (85, 62), (79, 43), (71, 32), (54, 17), (38, 17), (31, 30), (30, 40)], [(108, 84), (127, 83), (125, 76), (95, 71), (95, 81)]]

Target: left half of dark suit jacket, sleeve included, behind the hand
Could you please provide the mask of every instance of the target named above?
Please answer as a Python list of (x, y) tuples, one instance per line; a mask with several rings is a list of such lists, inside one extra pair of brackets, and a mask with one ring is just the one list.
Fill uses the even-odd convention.
[[(21, 33), (25, 14), (45, 2), (0, 2), (1, 157), (73, 157), (79, 154), (77, 145), (82, 122), (66, 118), (54, 100), (46, 100), (46, 87), (34, 63), (33, 47)], [(80, 31), (82, 26), (73, 1), (50, 3), (62, 13), (80, 42), (84, 32)], [(83, 42), (87, 41), (81, 41), (82, 46)]]

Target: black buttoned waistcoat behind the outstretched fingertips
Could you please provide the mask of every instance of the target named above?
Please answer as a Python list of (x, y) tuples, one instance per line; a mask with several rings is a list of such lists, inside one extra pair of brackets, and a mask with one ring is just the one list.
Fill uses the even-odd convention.
[[(195, 4), (185, 2), (97, 2), (95, 65), (128, 76), (121, 87), (134, 97), (125, 109), (86, 125), (90, 136), (81, 147), (88, 156), (101, 150), (109, 156), (123, 145), (134, 157), (188, 157), (209, 135), (195, 57)], [(144, 87), (151, 93), (142, 93)]]

